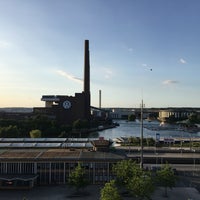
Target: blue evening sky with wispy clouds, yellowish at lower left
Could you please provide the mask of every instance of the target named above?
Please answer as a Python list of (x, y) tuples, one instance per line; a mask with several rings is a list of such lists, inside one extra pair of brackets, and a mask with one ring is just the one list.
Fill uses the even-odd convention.
[(83, 91), (92, 106), (200, 107), (199, 0), (0, 0), (0, 107)]

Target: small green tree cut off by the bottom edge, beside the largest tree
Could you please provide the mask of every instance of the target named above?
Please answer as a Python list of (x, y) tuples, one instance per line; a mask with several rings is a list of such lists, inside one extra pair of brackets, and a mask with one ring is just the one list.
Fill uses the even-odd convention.
[(111, 180), (109, 183), (106, 183), (105, 186), (101, 189), (100, 200), (121, 200), (121, 199), (122, 198), (118, 192), (114, 180)]

